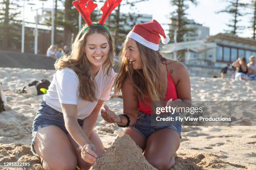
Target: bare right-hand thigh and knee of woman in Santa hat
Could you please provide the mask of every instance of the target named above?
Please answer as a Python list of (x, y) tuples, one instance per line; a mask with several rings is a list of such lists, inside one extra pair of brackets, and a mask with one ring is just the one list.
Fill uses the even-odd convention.
[(155, 168), (168, 170), (174, 165), (174, 154), (179, 144), (179, 134), (175, 130), (156, 131), (148, 137), (144, 156)]

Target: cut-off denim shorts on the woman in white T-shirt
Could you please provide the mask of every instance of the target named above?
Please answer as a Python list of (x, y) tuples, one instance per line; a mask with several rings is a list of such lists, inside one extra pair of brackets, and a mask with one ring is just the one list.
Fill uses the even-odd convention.
[[(83, 125), (83, 120), (77, 119), (77, 122), (80, 126)], [(49, 105), (46, 105), (46, 102), (42, 100), (32, 126), (32, 143), (30, 145), (30, 148), (34, 155), (36, 155), (33, 147), (36, 140), (36, 133), (38, 132), (38, 130), (46, 126), (57, 126), (61, 128), (64, 133), (66, 133), (67, 135), (69, 134), (67, 129), (65, 128), (63, 114), (53, 109)]]

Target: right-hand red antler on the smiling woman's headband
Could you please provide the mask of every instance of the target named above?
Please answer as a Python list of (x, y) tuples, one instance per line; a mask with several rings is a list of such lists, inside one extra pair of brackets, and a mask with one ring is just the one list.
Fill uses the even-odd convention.
[(100, 8), (100, 10), (103, 12), (99, 22), (100, 25), (103, 25), (106, 22), (108, 15), (110, 15), (115, 7), (117, 7), (121, 2), (122, 0), (107, 0), (104, 3), (104, 5)]

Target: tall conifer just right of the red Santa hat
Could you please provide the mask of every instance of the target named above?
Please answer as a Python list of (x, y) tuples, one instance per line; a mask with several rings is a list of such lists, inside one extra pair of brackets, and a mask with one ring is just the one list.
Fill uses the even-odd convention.
[(197, 5), (197, 0), (171, 0), (170, 3), (172, 6), (176, 6), (177, 10), (172, 12), (172, 24), (169, 30), (169, 37), (171, 40), (174, 39), (174, 30), (177, 30), (177, 42), (184, 41), (184, 35), (189, 36), (195, 35), (195, 28), (187, 28), (187, 24), (192, 24), (187, 18), (185, 11), (189, 8), (186, 2), (191, 2), (194, 5)]

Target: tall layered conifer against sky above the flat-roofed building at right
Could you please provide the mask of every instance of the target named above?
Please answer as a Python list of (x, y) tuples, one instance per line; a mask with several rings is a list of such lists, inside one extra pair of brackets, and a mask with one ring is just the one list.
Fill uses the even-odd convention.
[(241, 0), (225, 0), (226, 2), (229, 3), (227, 7), (225, 7), (224, 10), (220, 10), (217, 13), (229, 13), (233, 15), (233, 19), (231, 19), (231, 24), (227, 24), (229, 28), (232, 30), (227, 30), (226, 32), (236, 35), (239, 33), (239, 30), (243, 30), (245, 27), (239, 26), (238, 22), (241, 21), (238, 18), (243, 16), (244, 14), (241, 12), (242, 8), (245, 8), (248, 6), (246, 3), (240, 2)]

